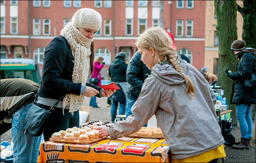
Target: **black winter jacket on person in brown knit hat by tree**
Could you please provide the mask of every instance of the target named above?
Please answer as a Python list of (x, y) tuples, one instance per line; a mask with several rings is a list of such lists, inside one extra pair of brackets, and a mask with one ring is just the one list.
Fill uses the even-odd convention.
[(245, 80), (250, 80), (253, 73), (256, 73), (255, 49), (242, 50), (236, 56), (239, 58), (236, 64), (236, 72), (232, 73), (234, 80), (231, 95), (232, 104), (255, 104), (255, 88), (246, 87)]

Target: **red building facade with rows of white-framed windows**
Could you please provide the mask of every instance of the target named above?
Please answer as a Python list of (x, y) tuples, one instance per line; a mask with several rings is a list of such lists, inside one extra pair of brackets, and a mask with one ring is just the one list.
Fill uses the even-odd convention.
[[(108, 65), (118, 52), (127, 61), (137, 51), (134, 40), (145, 28), (163, 25), (174, 35), (177, 50), (197, 69), (204, 66), (206, 1), (180, 0), (1, 0), (1, 58), (31, 58), (42, 69), (44, 48), (79, 8), (93, 8), (102, 16), (102, 27), (94, 37), (95, 58)], [(107, 75), (106, 75), (107, 76)]]

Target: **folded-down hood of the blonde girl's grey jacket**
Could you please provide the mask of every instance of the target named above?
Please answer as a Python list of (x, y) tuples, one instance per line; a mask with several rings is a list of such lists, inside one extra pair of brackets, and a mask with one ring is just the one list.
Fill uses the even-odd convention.
[[(180, 56), (178, 56), (177, 62), (180, 64), (183, 73), (188, 76), (190, 73), (188, 63), (185, 60), (182, 60)], [(154, 65), (151, 74), (171, 86), (181, 85), (186, 82), (184, 77), (173, 68), (169, 60)]]

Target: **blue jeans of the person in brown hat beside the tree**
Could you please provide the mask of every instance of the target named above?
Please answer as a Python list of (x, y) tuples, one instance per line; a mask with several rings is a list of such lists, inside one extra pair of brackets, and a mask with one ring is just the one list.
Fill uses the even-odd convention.
[(240, 125), (241, 137), (249, 139), (252, 135), (251, 104), (236, 104), (236, 119)]

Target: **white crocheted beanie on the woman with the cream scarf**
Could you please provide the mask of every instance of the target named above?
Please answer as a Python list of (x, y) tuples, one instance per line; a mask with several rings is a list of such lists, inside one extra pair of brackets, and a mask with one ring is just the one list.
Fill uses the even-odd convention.
[(72, 17), (72, 23), (75, 28), (88, 28), (100, 30), (101, 14), (91, 8), (81, 8)]

